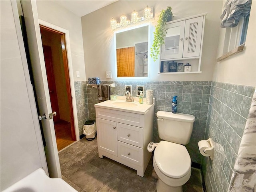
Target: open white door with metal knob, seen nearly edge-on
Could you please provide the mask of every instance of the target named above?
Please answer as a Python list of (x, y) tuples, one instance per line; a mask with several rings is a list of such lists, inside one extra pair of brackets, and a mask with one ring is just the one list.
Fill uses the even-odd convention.
[(53, 119), (49, 118), (52, 114), (50, 94), (47, 83), (46, 69), (44, 64), (44, 52), (39, 28), (36, 1), (21, 0), (24, 14), (26, 32), (28, 36), (28, 47), (34, 76), (36, 98), (41, 116), (46, 114), (46, 119), (42, 119), (42, 127), (46, 141), (45, 154), (52, 178), (61, 178), (60, 162), (56, 144)]

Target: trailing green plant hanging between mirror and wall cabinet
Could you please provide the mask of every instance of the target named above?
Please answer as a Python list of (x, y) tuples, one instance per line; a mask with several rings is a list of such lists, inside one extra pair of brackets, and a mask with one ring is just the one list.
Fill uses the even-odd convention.
[(153, 58), (154, 61), (158, 59), (160, 54), (160, 46), (164, 44), (164, 37), (167, 34), (165, 25), (167, 21), (171, 21), (173, 17), (172, 14), (172, 7), (168, 6), (166, 10), (162, 10), (160, 12), (158, 22), (156, 25), (156, 30), (154, 32), (154, 41), (151, 47), (151, 54), (150, 56)]

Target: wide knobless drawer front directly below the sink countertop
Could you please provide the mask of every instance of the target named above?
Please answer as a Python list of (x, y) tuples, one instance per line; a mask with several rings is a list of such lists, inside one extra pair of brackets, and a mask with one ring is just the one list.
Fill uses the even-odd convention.
[(144, 115), (96, 107), (96, 117), (119, 123), (144, 127)]

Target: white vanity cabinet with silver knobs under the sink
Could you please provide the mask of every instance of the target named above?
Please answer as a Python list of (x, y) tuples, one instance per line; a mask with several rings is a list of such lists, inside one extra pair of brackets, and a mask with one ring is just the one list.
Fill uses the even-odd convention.
[(143, 177), (152, 155), (147, 146), (152, 141), (154, 105), (136, 113), (104, 108), (102, 103), (95, 104), (99, 157), (129, 166)]

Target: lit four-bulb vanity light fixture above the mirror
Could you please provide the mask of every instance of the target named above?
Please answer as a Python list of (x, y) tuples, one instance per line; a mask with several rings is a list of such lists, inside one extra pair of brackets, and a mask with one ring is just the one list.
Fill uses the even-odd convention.
[(120, 17), (120, 23), (117, 22), (114, 18), (110, 20), (110, 28), (112, 30), (115, 30), (119, 27), (124, 27), (130, 24), (136, 24), (137, 22), (141, 22), (144, 20), (150, 20), (153, 18), (153, 9), (150, 7), (146, 7), (144, 10), (140, 11), (140, 14), (143, 14), (143, 16), (139, 16), (139, 13), (134, 10), (134, 12), (131, 13), (131, 20), (128, 20), (127, 17), (122, 14)]

